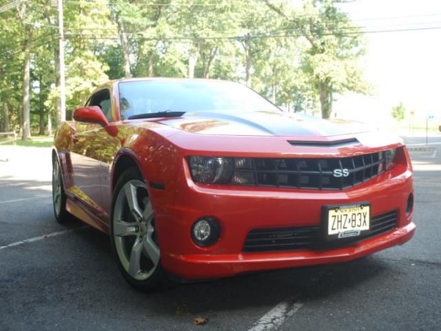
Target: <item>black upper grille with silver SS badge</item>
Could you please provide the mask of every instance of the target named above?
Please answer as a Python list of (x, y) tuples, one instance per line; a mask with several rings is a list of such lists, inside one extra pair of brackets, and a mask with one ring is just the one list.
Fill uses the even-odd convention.
[(384, 153), (328, 159), (250, 159), (249, 169), (235, 168), (235, 176), (252, 177), (258, 186), (309, 190), (344, 190), (384, 171)]

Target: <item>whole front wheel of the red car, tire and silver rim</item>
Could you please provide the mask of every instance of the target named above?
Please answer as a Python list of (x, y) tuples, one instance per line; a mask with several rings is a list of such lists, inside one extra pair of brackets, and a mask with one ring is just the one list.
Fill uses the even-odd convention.
[(123, 277), (139, 290), (163, 280), (161, 253), (147, 185), (136, 168), (123, 172), (114, 190), (111, 240)]

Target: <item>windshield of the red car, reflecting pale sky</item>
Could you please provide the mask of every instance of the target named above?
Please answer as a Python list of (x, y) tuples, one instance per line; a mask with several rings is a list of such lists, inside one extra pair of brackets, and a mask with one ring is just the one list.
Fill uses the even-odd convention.
[(280, 112), (253, 90), (227, 81), (119, 83), (121, 119), (154, 112)]

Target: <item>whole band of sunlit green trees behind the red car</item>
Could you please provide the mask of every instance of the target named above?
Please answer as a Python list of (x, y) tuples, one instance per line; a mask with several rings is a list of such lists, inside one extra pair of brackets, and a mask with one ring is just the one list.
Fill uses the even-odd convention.
[[(51, 2), (0, 13), (0, 130), (23, 138), (27, 109), (32, 132), (60, 119)], [(369, 92), (362, 34), (331, 0), (65, 1), (64, 23), (68, 118), (96, 86), (120, 77), (240, 81), (291, 111), (320, 105), (325, 118), (336, 94)]]

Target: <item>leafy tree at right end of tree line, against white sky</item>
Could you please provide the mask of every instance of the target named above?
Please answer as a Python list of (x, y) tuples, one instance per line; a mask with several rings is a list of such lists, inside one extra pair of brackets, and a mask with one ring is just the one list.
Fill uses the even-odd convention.
[(360, 66), (360, 57), (365, 54), (361, 30), (335, 6), (335, 1), (305, 1), (301, 12), (289, 8), (285, 1), (265, 2), (287, 19), (291, 34), (298, 34), (309, 43), (302, 70), (319, 96), (323, 118), (331, 115), (334, 94), (369, 93), (371, 88), (363, 79)]

